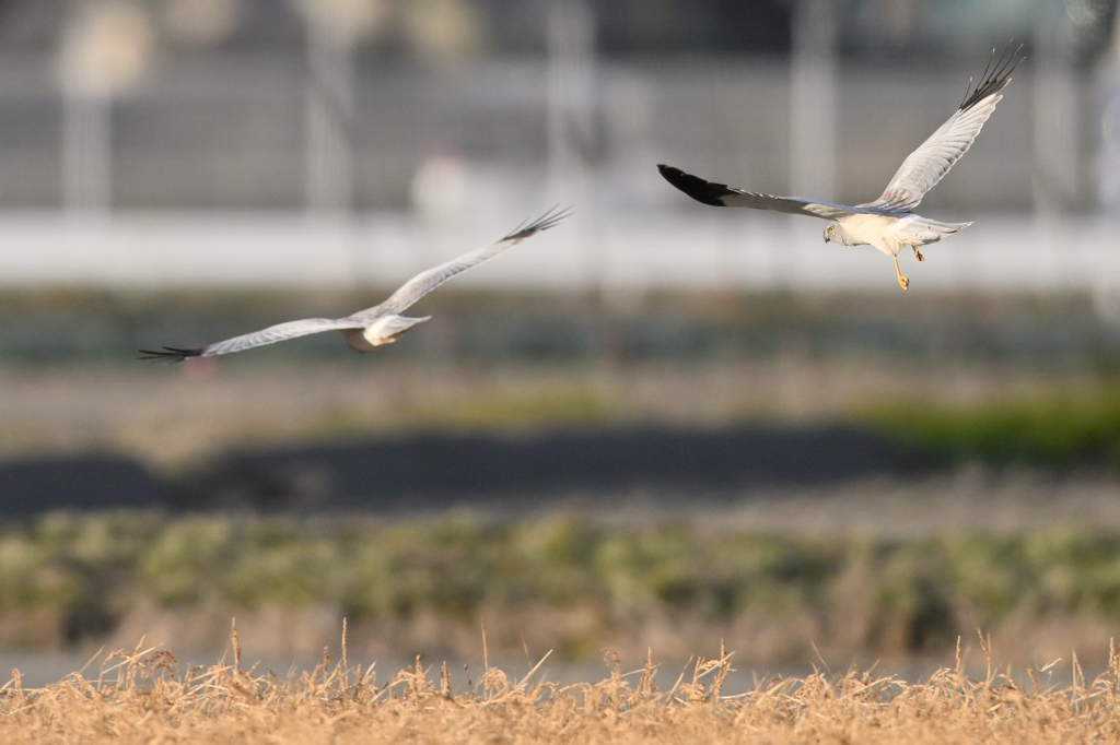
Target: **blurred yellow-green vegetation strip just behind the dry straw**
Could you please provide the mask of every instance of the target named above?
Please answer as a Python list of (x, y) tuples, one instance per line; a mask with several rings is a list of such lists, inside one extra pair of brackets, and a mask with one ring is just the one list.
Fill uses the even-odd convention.
[(1012, 615), (1120, 622), (1120, 537), (1052, 529), (888, 541), (690, 524), (608, 529), (571, 515), (495, 525), (467, 513), (311, 524), (59, 513), (0, 529), (0, 620), (53, 611), (76, 641), (141, 603), (326, 606), (358, 624), (474, 624), (484, 611), (578, 606), (598, 624), (588, 633), (651, 617), (808, 617), (850, 631), (858, 609), (856, 641), (914, 652)]

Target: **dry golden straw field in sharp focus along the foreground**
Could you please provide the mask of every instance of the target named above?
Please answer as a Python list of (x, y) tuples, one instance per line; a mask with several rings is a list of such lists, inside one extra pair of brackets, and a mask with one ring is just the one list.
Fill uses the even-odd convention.
[[(344, 659), (281, 679), (234, 661), (180, 670), (167, 651), (111, 654), (96, 677), (74, 673), (25, 689), (19, 673), (0, 698), (4, 743), (1072, 743), (1120, 741), (1120, 670), (1051, 687), (993, 672), (990, 644), (982, 680), (956, 666), (921, 683), (851, 670), (758, 681), (724, 695), (732, 656), (699, 660), (668, 690), (655, 666), (613, 671), (598, 683), (559, 686), (535, 668), (520, 680), (487, 668), (452, 683), (441, 670), (416, 667), (383, 678)], [(344, 647), (345, 650), (345, 636)], [(540, 667), (540, 666), (538, 666)], [(464, 677), (469, 672), (465, 671)]]

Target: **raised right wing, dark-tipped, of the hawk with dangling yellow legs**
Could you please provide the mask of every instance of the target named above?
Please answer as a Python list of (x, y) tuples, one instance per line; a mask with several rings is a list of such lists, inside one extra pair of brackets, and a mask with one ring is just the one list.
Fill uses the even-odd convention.
[[(1021, 48), (1020, 46), (1019, 49)], [(976, 89), (969, 85), (960, 109), (917, 150), (906, 157), (881, 197), (859, 207), (890, 211), (909, 211), (917, 207), (925, 192), (960, 160), (996, 110), (996, 104), (1004, 97), (1000, 91), (1011, 81), (1011, 72), (1021, 59), (1017, 58), (1019, 49), (1012, 54), (1005, 49), (998, 60), (992, 51), (980, 83)]]

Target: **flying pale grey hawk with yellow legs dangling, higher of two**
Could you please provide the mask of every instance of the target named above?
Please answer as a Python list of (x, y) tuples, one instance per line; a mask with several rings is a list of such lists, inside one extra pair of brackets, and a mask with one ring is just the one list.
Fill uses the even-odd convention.
[(903, 276), (898, 268), (898, 252), (903, 246), (912, 247), (914, 257), (920, 262), (925, 261), (917, 249), (918, 246), (936, 243), (943, 236), (972, 225), (972, 223), (940, 223), (915, 215), (912, 210), (976, 140), (980, 128), (1004, 97), (1000, 91), (1010, 82), (1011, 72), (1019, 64), (1019, 59), (1016, 59), (1018, 49), (1010, 55), (1005, 50), (995, 64), (988, 63), (976, 89), (972, 89), (970, 83), (960, 109), (903, 161), (883, 196), (875, 201), (848, 207), (800, 197), (773, 197), (704, 181), (671, 166), (657, 166), (657, 169), (674, 187), (706, 205), (771, 209), (831, 220), (824, 228), (825, 243), (875, 246), (895, 260), (898, 284), (906, 290), (909, 280)]

